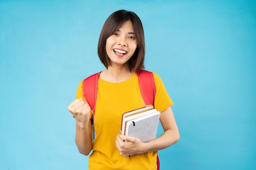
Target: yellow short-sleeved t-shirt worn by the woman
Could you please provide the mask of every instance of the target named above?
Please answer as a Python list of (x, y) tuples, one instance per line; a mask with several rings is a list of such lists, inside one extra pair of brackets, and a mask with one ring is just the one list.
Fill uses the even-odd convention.
[[(153, 73), (156, 86), (155, 108), (159, 112), (173, 105), (160, 77)], [(77, 88), (76, 98), (83, 98), (83, 81)], [(130, 79), (110, 83), (99, 78), (94, 117), (96, 138), (89, 156), (89, 170), (156, 170), (156, 152), (121, 156), (115, 146), (121, 128), (121, 115), (145, 106), (136, 74)]]

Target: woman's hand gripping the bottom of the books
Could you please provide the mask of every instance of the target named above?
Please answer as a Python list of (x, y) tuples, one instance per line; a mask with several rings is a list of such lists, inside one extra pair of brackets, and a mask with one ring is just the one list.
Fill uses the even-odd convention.
[(129, 157), (131, 155), (144, 153), (144, 143), (137, 137), (130, 137), (126, 135), (117, 135), (116, 147), (121, 155)]

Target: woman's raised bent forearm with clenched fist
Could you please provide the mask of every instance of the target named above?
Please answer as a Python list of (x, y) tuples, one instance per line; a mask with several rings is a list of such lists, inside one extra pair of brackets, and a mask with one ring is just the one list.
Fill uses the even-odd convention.
[(76, 99), (67, 109), (76, 118), (76, 146), (81, 154), (89, 155), (92, 150), (91, 108), (83, 99)]

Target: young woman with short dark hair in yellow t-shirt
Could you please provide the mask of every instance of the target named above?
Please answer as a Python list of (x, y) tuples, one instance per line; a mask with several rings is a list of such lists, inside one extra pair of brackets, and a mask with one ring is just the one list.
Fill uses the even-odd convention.
[[(144, 68), (145, 42), (139, 17), (120, 10), (112, 13), (99, 37), (98, 55), (106, 69), (99, 75), (94, 117), (97, 134), (92, 143), (90, 106), (83, 99), (82, 83), (68, 110), (76, 118), (77, 148), (89, 155), (89, 170), (156, 170), (157, 152), (175, 144), (180, 136), (173, 116), (172, 100), (160, 77), (153, 73), (156, 86), (154, 106), (161, 112), (164, 133), (147, 143), (120, 135), (121, 115), (145, 106), (137, 73)], [(132, 155), (132, 156), (129, 156)]]

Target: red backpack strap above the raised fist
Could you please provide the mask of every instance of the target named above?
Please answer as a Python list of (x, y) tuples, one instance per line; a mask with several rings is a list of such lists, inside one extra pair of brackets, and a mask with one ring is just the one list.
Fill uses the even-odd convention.
[(100, 72), (83, 80), (83, 97), (92, 110), (92, 118), (94, 118), (97, 101), (99, 74)]

